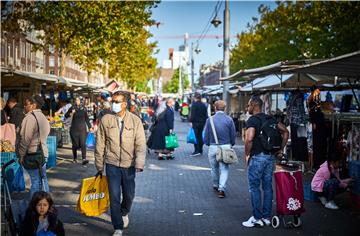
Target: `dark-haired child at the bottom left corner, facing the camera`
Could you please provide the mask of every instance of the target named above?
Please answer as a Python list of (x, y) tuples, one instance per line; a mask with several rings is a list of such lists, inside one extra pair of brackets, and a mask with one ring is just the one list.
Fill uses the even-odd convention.
[(49, 193), (35, 192), (26, 210), (20, 228), (21, 235), (65, 235), (62, 222), (57, 218), (54, 202)]

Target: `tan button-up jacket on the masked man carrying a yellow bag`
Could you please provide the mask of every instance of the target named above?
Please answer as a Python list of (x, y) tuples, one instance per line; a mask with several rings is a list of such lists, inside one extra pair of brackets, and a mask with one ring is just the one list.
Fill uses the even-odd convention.
[(102, 117), (96, 132), (95, 165), (98, 171), (104, 170), (104, 163), (144, 169), (146, 140), (142, 122), (139, 117), (126, 111), (123, 125), (120, 144), (118, 116), (106, 114)]

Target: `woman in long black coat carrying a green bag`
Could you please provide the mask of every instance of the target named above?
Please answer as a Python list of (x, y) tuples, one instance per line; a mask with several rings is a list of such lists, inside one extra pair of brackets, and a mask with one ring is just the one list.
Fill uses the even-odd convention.
[(174, 130), (173, 106), (174, 100), (172, 98), (167, 99), (165, 110), (157, 114), (156, 121), (148, 141), (149, 148), (158, 153), (159, 160), (162, 160), (164, 157), (172, 157), (173, 150), (165, 148), (165, 136), (169, 136), (169, 134)]

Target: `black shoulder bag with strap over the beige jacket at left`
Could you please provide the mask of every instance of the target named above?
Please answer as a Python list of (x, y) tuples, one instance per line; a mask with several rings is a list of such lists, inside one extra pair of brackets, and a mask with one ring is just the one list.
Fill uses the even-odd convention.
[(38, 122), (34, 112), (32, 112), (31, 114), (35, 117), (36, 123), (37, 123), (37, 126), (38, 126), (39, 144), (37, 146), (36, 152), (31, 152), (31, 153), (26, 152), (26, 154), (25, 154), (23, 166), (27, 170), (34, 170), (34, 169), (41, 168), (46, 162), (45, 161), (45, 156), (44, 156), (44, 151), (42, 149), (41, 140), (40, 140), (39, 122)]

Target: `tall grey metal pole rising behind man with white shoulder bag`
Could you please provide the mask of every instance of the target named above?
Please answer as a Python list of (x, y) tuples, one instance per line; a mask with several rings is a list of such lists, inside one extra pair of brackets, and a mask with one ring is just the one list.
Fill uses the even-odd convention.
[[(230, 10), (229, 10), (229, 0), (225, 0), (225, 10), (224, 10), (224, 62), (223, 62), (223, 77), (227, 77), (230, 74)], [(224, 81), (223, 83), (223, 100), (226, 102), (226, 112), (230, 111), (230, 102), (229, 102), (229, 81)]]

